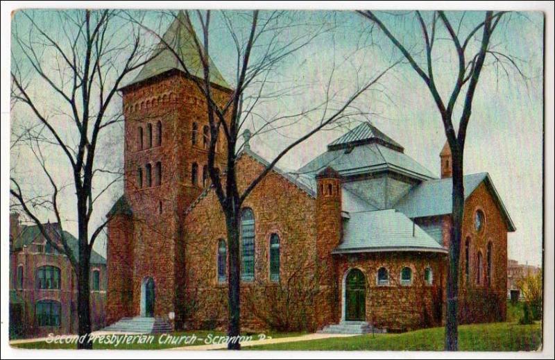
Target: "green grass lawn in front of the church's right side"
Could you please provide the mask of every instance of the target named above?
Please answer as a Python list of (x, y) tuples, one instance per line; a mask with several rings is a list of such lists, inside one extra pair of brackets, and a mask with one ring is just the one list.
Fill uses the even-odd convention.
[[(295, 343), (278, 343), (244, 348), (245, 350), (443, 350), (443, 327), (403, 334), (371, 334), (348, 338), (327, 338)], [(530, 351), (541, 345), (540, 323), (489, 323), (459, 326), (461, 351)]]

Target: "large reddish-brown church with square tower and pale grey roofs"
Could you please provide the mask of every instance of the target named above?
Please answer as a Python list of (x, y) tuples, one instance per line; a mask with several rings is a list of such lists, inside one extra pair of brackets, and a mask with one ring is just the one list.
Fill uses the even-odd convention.
[[(125, 186), (108, 213), (112, 329), (133, 319), (150, 320), (151, 329), (227, 322), (228, 243), (207, 174), (206, 104), (191, 80), (202, 76), (194, 36), (182, 14), (164, 35), (188, 75), (161, 48), (121, 89)], [(212, 79), (225, 102), (232, 89), (213, 64)], [(225, 155), (225, 146), (216, 146), (220, 169)], [(248, 142), (237, 157), (241, 189), (267, 162)], [(242, 210), (241, 325), (389, 332), (441, 325), (452, 206), (448, 146), (439, 160), (441, 178), (362, 121), (297, 171), (268, 173)], [(464, 187), (459, 318), (502, 321), (507, 232), (515, 227), (488, 173), (466, 175)]]

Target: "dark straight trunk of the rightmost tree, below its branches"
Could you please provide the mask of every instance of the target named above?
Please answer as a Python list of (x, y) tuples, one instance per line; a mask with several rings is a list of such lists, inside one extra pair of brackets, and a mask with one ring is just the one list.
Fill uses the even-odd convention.
[(464, 212), (463, 150), (451, 148), (452, 153), (452, 228), (449, 246), (449, 271), (447, 271), (447, 318), (445, 321), (445, 350), (459, 349), (459, 259)]

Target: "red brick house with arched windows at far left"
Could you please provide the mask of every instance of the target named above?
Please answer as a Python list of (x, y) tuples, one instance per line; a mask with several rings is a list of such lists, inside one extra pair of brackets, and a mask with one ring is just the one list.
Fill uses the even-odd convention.
[[(78, 258), (78, 241), (58, 223), (43, 224), (58, 243), (63, 236)], [(91, 254), (91, 319), (105, 325), (106, 260)], [(44, 239), (37, 225), (21, 225), (10, 214), (10, 336), (76, 334), (77, 278), (69, 259)]]

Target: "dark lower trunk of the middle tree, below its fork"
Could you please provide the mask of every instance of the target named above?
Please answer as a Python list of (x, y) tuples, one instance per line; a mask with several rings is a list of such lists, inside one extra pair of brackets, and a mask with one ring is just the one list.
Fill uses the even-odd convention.
[(228, 336), (234, 341), (228, 342), (229, 350), (240, 350), (239, 335), (241, 333), (241, 265), (239, 263), (239, 209), (225, 209), (225, 222), (228, 230), (229, 262), (228, 262), (228, 305), (229, 323)]

